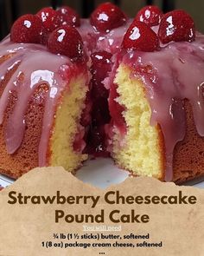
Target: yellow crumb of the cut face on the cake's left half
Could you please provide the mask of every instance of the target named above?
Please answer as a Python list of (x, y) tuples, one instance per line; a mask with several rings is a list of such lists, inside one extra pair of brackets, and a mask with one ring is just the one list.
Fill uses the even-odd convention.
[[(50, 166), (63, 166), (67, 171), (73, 171), (79, 167), (81, 161), (87, 159), (87, 154), (82, 154), (85, 146), (83, 141), (85, 131), (80, 125), (80, 116), (86, 107), (87, 89), (85, 77), (78, 75), (71, 80), (68, 91), (66, 90), (61, 97), (50, 140)], [(78, 148), (73, 150), (76, 139), (78, 139)]]

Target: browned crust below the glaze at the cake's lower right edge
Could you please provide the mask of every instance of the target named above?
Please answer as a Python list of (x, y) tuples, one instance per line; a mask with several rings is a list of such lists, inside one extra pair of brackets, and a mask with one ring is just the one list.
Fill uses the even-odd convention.
[(186, 135), (176, 144), (174, 150), (175, 183), (193, 180), (204, 176), (204, 137), (198, 135), (194, 125), (194, 115), (188, 100), (184, 101), (186, 110)]

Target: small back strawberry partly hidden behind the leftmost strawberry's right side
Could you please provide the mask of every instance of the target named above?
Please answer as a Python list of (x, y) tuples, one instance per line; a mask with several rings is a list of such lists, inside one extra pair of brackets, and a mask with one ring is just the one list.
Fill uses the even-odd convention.
[(61, 26), (59, 14), (51, 7), (46, 7), (39, 10), (36, 16), (39, 16), (41, 18), (43, 26), (48, 32), (52, 32), (53, 30)]

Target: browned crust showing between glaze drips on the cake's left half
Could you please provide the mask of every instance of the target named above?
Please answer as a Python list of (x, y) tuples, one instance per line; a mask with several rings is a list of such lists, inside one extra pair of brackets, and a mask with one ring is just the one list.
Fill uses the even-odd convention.
[[(3, 93), (10, 76), (15, 69), (11, 69), (5, 79), (0, 84), (0, 95)], [(29, 100), (25, 115), (26, 131), (22, 145), (16, 153), (8, 154), (5, 146), (5, 128), (7, 120), (11, 115), (16, 101), (16, 92), (10, 94), (10, 102), (4, 114), (3, 124), (0, 126), (0, 173), (12, 178), (18, 178), (30, 169), (38, 166), (38, 146), (41, 138), (41, 125), (43, 118), (44, 103), (48, 92), (48, 86), (41, 85), (35, 90), (34, 95)]]

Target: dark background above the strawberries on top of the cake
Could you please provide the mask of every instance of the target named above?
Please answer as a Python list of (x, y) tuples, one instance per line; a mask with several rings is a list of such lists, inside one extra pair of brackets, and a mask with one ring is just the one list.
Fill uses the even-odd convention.
[[(35, 14), (45, 6), (56, 8), (61, 5), (69, 5), (80, 13), (80, 16), (86, 17), (92, 12), (99, 3), (107, 1), (101, 0), (0, 0), (0, 38), (6, 36), (10, 31), (11, 24), (18, 16), (26, 13)], [(197, 30), (204, 32), (204, 1), (203, 0), (115, 0), (110, 1), (118, 4), (124, 12), (134, 17), (137, 10), (140, 10), (145, 4), (156, 4), (164, 12), (174, 9), (187, 10), (193, 16)]]

